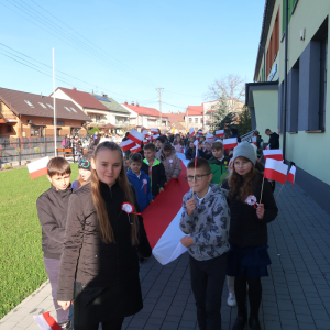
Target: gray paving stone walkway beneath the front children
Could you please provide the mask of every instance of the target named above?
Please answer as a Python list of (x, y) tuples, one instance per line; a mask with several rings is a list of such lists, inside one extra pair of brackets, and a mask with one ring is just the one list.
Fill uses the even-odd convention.
[[(277, 185), (275, 196), (278, 194)], [(260, 318), (265, 330), (330, 330), (330, 217), (298, 186), (287, 185), (279, 213), (268, 224), (270, 277), (263, 278)], [(151, 257), (141, 268), (144, 308), (127, 318), (128, 330), (198, 329), (187, 253), (166, 266)], [(222, 296), (222, 329), (230, 330), (237, 308)], [(34, 329), (32, 315), (54, 309), (50, 284), (0, 320), (0, 329)], [(246, 328), (248, 329), (248, 328)]]

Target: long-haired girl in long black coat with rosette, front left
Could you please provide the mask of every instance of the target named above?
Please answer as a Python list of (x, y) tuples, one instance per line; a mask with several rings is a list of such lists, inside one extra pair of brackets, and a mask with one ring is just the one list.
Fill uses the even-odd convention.
[(99, 144), (90, 183), (69, 199), (59, 267), (57, 300), (66, 310), (74, 298), (75, 330), (121, 329), (142, 309), (138, 251), (152, 250), (138, 213), (121, 148)]

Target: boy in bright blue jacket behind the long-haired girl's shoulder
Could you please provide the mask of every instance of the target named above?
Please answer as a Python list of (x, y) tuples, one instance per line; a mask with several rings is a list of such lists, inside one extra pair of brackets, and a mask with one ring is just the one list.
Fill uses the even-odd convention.
[(140, 211), (143, 212), (153, 200), (150, 177), (141, 170), (142, 156), (134, 153), (130, 157), (131, 169), (127, 173), (129, 182), (134, 186)]

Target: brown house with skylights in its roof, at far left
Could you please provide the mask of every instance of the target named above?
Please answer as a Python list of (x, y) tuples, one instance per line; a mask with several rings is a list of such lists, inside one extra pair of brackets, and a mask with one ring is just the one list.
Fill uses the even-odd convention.
[[(54, 99), (42, 95), (0, 88), (0, 136), (54, 136)], [(56, 99), (57, 135), (86, 135), (86, 116), (69, 100)]]

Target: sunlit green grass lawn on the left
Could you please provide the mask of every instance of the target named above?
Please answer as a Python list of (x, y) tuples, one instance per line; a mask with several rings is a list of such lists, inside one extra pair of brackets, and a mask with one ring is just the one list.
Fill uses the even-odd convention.
[[(72, 169), (73, 182), (77, 164)], [(35, 202), (50, 187), (26, 167), (0, 172), (0, 319), (47, 279)]]

